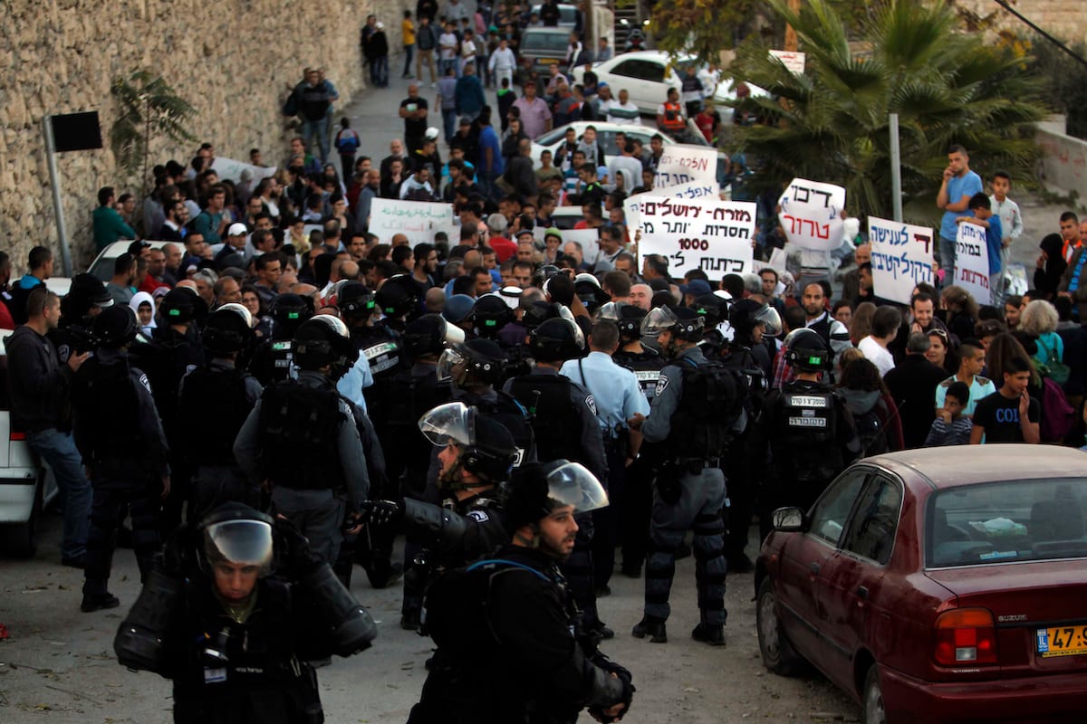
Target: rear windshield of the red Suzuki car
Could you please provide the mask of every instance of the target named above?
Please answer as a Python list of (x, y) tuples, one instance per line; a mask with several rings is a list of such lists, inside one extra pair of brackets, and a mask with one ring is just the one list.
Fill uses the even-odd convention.
[(1087, 556), (1087, 478), (1017, 480), (936, 493), (925, 515), (928, 568)]

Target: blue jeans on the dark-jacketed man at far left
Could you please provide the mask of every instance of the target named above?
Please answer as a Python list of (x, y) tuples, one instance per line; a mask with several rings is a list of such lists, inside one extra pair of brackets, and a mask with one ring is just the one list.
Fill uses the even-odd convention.
[(64, 510), (64, 534), (61, 541), (63, 558), (78, 558), (87, 550), (90, 526), (90, 481), (83, 472), (83, 456), (75, 447), (71, 432), (55, 428), (26, 435), (30, 449), (53, 471)]

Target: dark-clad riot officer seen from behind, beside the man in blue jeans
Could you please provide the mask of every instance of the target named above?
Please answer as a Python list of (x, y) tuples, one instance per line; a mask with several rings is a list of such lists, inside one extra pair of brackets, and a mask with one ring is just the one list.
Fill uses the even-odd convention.
[(125, 506), (141, 576), (160, 552), (159, 510), (170, 493), (170, 447), (147, 376), (128, 364), (127, 347), (138, 328), (129, 307), (103, 309), (91, 328), (95, 355), (73, 382), (75, 442), (93, 490), (80, 606), (85, 612), (121, 602), (108, 584), (113, 537)]

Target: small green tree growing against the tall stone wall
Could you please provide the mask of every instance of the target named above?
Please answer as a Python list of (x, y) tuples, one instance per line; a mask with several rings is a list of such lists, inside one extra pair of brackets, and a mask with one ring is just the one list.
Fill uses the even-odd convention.
[(152, 137), (162, 134), (176, 142), (195, 141), (196, 136), (189, 132), (186, 123), (197, 111), (162, 76), (147, 71), (116, 78), (111, 92), (120, 105), (117, 119), (110, 129), (113, 155), (128, 174), (136, 174), (142, 167), (146, 186)]

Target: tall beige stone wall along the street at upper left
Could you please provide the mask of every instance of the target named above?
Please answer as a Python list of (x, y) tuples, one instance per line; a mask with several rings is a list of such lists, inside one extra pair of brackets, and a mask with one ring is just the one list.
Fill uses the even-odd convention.
[[(58, 249), (41, 118), (99, 112), (107, 148), (61, 154), (73, 259), (91, 258), (90, 214), (97, 190), (139, 193), (109, 149), (117, 105), (114, 78), (146, 68), (161, 74), (199, 115), (189, 129), (216, 154), (264, 162), (286, 153), (283, 99), (307, 65), (326, 68), (340, 103), (363, 87), (359, 31), (372, 8), (393, 16), (390, 0), (4, 0), (0, 34), (0, 247), (22, 274), (29, 249)], [(399, 37), (399, 31), (396, 33)], [(396, 38), (390, 36), (390, 45)], [(196, 144), (151, 145), (151, 164), (182, 163)]]

